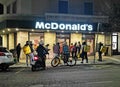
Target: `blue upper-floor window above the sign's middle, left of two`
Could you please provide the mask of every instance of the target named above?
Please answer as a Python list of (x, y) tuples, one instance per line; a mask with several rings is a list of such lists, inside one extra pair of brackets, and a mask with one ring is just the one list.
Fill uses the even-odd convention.
[(59, 13), (68, 13), (68, 1), (59, 0)]

